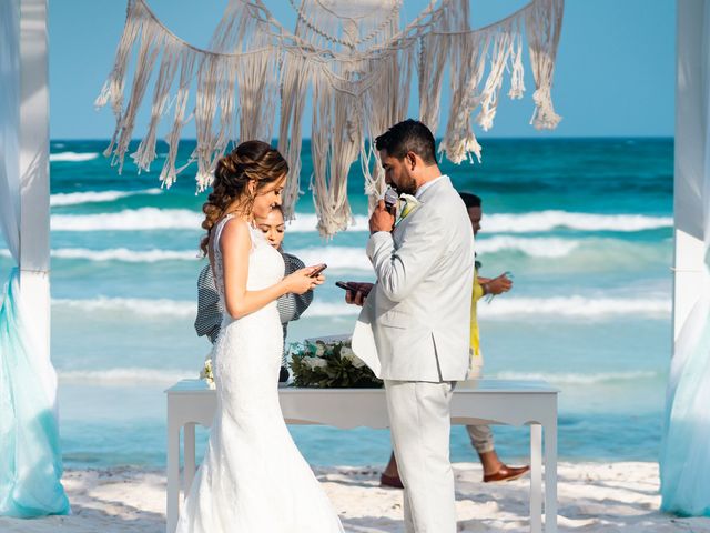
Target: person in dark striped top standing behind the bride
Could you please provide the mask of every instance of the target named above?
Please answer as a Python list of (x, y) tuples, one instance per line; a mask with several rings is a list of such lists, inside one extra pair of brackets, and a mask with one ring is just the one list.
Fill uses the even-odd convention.
[[(255, 219), (254, 223), (256, 224), (256, 228), (264, 233), (268, 243), (278, 250), (281, 255), (284, 258), (284, 275), (288, 275), (298, 269), (305, 268), (303, 261), (295, 255), (283, 251), (282, 243), (286, 227), (281, 205), (273, 208), (267, 217)], [(303, 312), (308, 309), (312, 301), (313, 291), (308, 291), (304, 294), (284, 294), (277, 300), (278, 315), (281, 316), (281, 324), (284, 331), (284, 355), (281, 365), (281, 374), (278, 376), (280, 382), (288, 380), (285, 351), (288, 322), (298, 320)], [(197, 318), (195, 319), (195, 331), (197, 336), (206, 336), (210, 342), (214, 344), (220, 334), (223, 313), (224, 309), (220, 302), (220, 295), (217, 294), (217, 290), (214, 284), (212, 269), (210, 268), (210, 264), (206, 264), (197, 278)]]

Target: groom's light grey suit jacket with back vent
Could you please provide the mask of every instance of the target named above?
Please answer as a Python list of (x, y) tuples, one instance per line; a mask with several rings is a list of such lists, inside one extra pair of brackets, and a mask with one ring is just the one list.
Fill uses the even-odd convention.
[(468, 371), (474, 233), (448, 177), (426, 189), (394, 232), (367, 243), (377, 283), (353, 350), (385, 380), (459, 381)]

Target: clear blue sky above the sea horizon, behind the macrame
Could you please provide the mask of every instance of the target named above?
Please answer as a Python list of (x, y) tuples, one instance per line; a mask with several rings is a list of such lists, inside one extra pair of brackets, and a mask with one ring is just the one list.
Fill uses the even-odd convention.
[[(287, 0), (264, 0), (293, 28)], [(206, 46), (226, 0), (148, 0), (161, 21), (195, 46)], [(428, 0), (404, 0), (405, 21)], [(523, 0), (471, 0), (471, 24), (485, 26), (524, 6)], [(50, 134), (52, 139), (105, 139), (113, 115), (93, 101), (113, 64), (125, 22), (124, 0), (52, 0)], [(555, 131), (529, 125), (531, 73), (523, 100), (501, 98), (496, 137), (672, 137), (674, 125), (676, 2), (672, 0), (567, 0), (552, 97), (562, 121)], [(413, 82), (416, 86), (416, 80)], [(501, 97), (506, 92), (506, 83)], [(415, 91), (416, 95), (416, 91)], [(135, 132), (144, 132), (145, 108)], [(447, 104), (444, 103), (446, 117)], [(416, 118), (416, 102), (410, 115)], [(310, 120), (304, 135), (310, 137)], [(442, 127), (443, 128), (443, 127)], [(276, 130), (274, 130), (276, 131)], [(437, 132), (440, 135), (442, 131)], [(185, 137), (194, 137), (186, 130)]]

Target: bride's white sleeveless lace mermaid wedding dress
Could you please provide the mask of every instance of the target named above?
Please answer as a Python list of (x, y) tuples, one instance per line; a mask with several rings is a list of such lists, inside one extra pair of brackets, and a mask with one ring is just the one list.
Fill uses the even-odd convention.
[[(214, 279), (224, 303), (215, 228)], [(235, 221), (235, 223), (239, 223)], [(277, 283), (281, 253), (250, 227), (247, 290)], [(276, 301), (242, 319), (225, 313), (212, 360), (217, 411), (204, 460), (184, 502), (179, 533), (337, 533), (343, 527), (293, 442), (278, 404), (283, 332)]]

